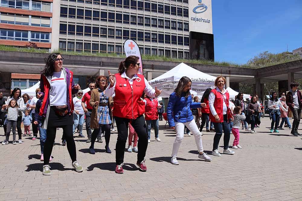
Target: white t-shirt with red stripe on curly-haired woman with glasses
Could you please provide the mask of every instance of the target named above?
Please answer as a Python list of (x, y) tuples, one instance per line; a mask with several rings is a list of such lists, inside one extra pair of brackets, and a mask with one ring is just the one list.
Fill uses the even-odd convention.
[(67, 105), (67, 87), (63, 71), (53, 72), (50, 89), (50, 106)]

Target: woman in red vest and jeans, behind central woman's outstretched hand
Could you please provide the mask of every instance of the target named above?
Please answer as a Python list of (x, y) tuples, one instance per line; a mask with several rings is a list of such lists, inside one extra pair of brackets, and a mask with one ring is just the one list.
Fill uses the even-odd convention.
[(147, 124), (147, 133), (148, 133), (148, 143), (150, 143), (150, 132), (151, 132), (151, 126), (153, 124), (154, 126), (154, 134), (155, 134), (155, 140), (160, 142), (160, 139), (158, 137), (158, 111), (157, 108), (161, 108), (162, 105), (158, 103), (157, 98), (150, 98), (147, 96), (143, 102), (146, 104), (146, 111), (145, 111), (145, 119)]

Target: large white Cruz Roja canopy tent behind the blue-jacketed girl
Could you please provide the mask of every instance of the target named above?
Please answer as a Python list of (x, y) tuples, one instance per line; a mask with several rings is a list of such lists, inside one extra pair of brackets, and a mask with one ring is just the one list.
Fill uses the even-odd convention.
[[(201, 96), (207, 88), (214, 85), (216, 77), (200, 72), (187, 64), (181, 63), (170, 71), (149, 81), (149, 84), (162, 90), (161, 97), (169, 97), (183, 76), (192, 80), (191, 94)], [(212, 87), (213, 88), (213, 87)]]

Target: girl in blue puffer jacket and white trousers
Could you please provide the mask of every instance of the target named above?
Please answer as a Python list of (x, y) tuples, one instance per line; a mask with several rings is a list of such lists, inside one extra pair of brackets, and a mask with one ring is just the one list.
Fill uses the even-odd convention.
[(191, 109), (205, 107), (205, 103), (192, 102), (190, 87), (191, 79), (188, 77), (182, 77), (175, 91), (170, 95), (169, 103), (167, 106), (167, 118), (170, 129), (176, 129), (176, 138), (173, 144), (171, 163), (173, 165), (179, 165), (176, 156), (179, 146), (184, 139), (185, 126), (193, 133), (195, 137), (195, 143), (199, 152), (198, 158), (206, 161), (212, 159), (207, 156), (202, 148), (201, 133), (194, 121)]

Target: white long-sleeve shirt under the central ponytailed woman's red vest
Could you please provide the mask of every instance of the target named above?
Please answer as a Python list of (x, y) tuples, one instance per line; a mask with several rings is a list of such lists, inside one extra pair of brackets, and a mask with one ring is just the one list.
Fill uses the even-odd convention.
[[(133, 75), (133, 77), (130, 79), (129, 77), (127, 77), (126, 73), (124, 72), (123, 74), (121, 74), (121, 77), (123, 78), (127, 78), (129, 83), (130, 83), (130, 86), (132, 88), (132, 84), (133, 84), (133, 80), (136, 79), (136, 78), (139, 78), (137, 76), (137, 74)], [(144, 81), (145, 81), (145, 89), (144, 89), (144, 92), (147, 96), (149, 97), (152, 97), (152, 98), (156, 98), (155, 96), (155, 89), (152, 88), (152, 86), (150, 86), (150, 84), (148, 83), (148, 81), (146, 80), (146, 78), (144, 78)], [(110, 87), (110, 84), (108, 85), (108, 87), (106, 88), (105, 90), (105, 94), (106, 96), (112, 96), (114, 93), (115, 93), (115, 84), (116, 82), (114, 83), (113, 87)]]

